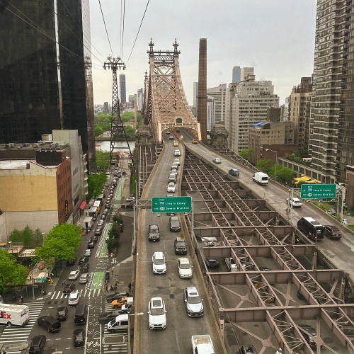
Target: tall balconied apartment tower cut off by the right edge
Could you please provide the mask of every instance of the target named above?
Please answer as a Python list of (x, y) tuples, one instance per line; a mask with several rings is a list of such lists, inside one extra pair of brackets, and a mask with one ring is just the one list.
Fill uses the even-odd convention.
[(354, 165), (353, 4), (317, 0), (309, 150), (323, 183), (345, 183)]

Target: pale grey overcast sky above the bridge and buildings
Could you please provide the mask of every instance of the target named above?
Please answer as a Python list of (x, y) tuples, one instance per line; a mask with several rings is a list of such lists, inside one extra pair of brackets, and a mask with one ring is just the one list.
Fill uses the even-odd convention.
[(150, 0), (148, 7), (147, 1), (125, 1), (121, 41), (120, 1), (101, 0), (107, 36), (99, 2), (90, 0), (94, 103), (112, 103), (112, 72), (102, 68), (108, 55), (126, 64), (118, 74), (125, 74), (127, 98), (144, 86), (150, 38), (154, 50), (173, 50), (177, 38), (190, 105), (193, 82), (198, 81), (200, 38), (207, 38), (207, 88), (232, 82), (236, 65), (254, 67), (256, 81), (272, 81), (282, 104), (302, 76), (312, 75), (316, 0)]

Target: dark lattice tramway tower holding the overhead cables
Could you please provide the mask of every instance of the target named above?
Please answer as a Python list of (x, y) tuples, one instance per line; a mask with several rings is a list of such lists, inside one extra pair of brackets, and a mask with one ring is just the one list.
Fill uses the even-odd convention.
[(120, 118), (120, 104), (118, 98), (118, 81), (117, 81), (117, 69), (125, 69), (125, 64), (121, 61), (120, 57), (111, 58), (108, 57), (107, 62), (103, 64), (103, 69), (112, 69), (113, 74), (113, 89), (112, 89), (112, 121), (110, 123), (110, 164), (117, 164), (119, 158), (114, 154), (115, 142), (118, 140), (119, 135), (124, 134), (127, 146), (129, 148), (130, 156), (132, 151), (125, 134), (122, 118)]

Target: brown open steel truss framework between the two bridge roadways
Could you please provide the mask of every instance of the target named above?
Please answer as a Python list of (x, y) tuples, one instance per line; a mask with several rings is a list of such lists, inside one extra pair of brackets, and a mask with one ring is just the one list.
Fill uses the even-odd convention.
[[(263, 350), (268, 346), (276, 350), (281, 343), (282, 353), (313, 353), (297, 321), (316, 319), (317, 333), (326, 324), (346, 353), (354, 353), (354, 304), (344, 303), (344, 270), (316, 270), (316, 246), (295, 244), (297, 239), (307, 239), (285, 217), (190, 152), (185, 154), (181, 195), (193, 196), (194, 209), (203, 210), (194, 212), (190, 236), (200, 251), (198, 261), (222, 336), (225, 321), (256, 338), (258, 334), (248, 331), (246, 324), (263, 323), (273, 338)], [(192, 232), (190, 215), (185, 220)], [(215, 246), (200, 246), (210, 237), (217, 239)], [(205, 263), (207, 258), (229, 257), (239, 271), (215, 271)], [(280, 270), (259, 268), (260, 257), (273, 258)], [(312, 269), (302, 265), (303, 259)], [(297, 294), (295, 298), (290, 290)], [(297, 297), (307, 304), (299, 303)], [(321, 337), (315, 341), (326, 347)]]

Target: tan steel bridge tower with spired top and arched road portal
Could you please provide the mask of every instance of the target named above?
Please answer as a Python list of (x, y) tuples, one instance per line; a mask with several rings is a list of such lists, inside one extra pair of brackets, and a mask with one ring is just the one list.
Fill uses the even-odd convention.
[[(155, 139), (162, 141), (162, 133), (171, 127), (187, 127), (195, 130), (200, 139), (200, 125), (189, 108), (179, 69), (178, 43), (173, 43), (170, 52), (154, 51), (154, 43), (149, 43), (150, 74), (147, 94), (147, 120), (152, 125)], [(151, 109), (151, 114), (149, 110)]]

